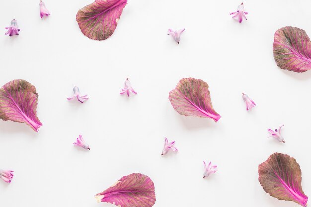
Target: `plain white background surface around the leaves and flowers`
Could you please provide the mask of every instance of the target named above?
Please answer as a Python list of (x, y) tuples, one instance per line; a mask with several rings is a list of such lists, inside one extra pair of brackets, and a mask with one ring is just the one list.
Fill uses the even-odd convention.
[[(272, 153), (296, 158), (302, 187), (311, 196), (311, 72), (279, 69), (274, 32), (296, 26), (311, 35), (310, 0), (244, 1), (242, 24), (229, 12), (237, 0), (129, 0), (117, 29), (105, 41), (85, 37), (75, 16), (92, 0), (1, 0), (0, 85), (25, 79), (39, 94), (38, 133), (0, 120), (1, 207), (112, 207), (94, 195), (139, 172), (155, 183), (154, 207), (295, 207), (265, 193), (258, 165)], [(4, 35), (15, 18), (18, 37)], [(185, 28), (177, 45), (167, 29)], [(119, 95), (129, 77), (136, 96)], [(168, 93), (181, 78), (209, 84), (222, 116), (185, 117)], [(69, 102), (74, 85), (90, 99)], [(257, 104), (246, 111), (242, 92)], [(267, 139), (283, 127), (286, 143)], [(72, 145), (79, 134), (85, 151)], [(179, 152), (161, 157), (164, 137)], [(218, 171), (203, 179), (202, 161)]]

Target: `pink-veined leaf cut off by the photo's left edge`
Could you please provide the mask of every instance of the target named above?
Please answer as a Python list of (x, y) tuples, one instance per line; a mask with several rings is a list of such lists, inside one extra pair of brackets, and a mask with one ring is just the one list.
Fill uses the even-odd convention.
[(38, 132), (42, 126), (37, 117), (36, 87), (26, 80), (12, 80), (0, 89), (0, 118), (23, 122)]

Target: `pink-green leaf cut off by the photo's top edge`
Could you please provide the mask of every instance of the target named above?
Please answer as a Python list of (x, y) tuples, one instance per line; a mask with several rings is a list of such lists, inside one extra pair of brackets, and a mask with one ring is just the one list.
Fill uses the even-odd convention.
[(127, 0), (95, 0), (78, 10), (76, 20), (85, 36), (105, 40), (117, 27)]

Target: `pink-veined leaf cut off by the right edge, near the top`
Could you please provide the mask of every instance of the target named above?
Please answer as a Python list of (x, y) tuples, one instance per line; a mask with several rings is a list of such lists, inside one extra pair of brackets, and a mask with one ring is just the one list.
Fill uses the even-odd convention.
[(281, 69), (305, 72), (311, 69), (311, 43), (308, 35), (296, 27), (283, 27), (274, 34), (273, 55)]

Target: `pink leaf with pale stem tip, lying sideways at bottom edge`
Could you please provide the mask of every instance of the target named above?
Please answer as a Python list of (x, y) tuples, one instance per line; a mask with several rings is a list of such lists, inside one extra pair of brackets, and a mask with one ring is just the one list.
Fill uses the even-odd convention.
[(140, 173), (123, 176), (95, 198), (98, 202), (108, 202), (118, 207), (152, 207), (156, 202), (154, 183)]

